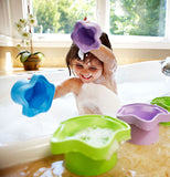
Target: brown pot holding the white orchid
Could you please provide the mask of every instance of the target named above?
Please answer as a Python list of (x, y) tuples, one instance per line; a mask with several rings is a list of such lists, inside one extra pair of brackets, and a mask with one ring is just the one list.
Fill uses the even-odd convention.
[(23, 66), (25, 71), (34, 71), (39, 70), (41, 59), (39, 55), (31, 55), (28, 58), (25, 62), (23, 62)]

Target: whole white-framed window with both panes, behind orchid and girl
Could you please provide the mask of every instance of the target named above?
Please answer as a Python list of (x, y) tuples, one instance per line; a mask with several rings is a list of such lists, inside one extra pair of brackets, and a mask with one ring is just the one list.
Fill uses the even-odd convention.
[(26, 14), (29, 1), (39, 23), (36, 46), (70, 46), (75, 21), (87, 17), (109, 34), (113, 48), (170, 49), (170, 0), (1, 0), (0, 43), (17, 40), (13, 22)]

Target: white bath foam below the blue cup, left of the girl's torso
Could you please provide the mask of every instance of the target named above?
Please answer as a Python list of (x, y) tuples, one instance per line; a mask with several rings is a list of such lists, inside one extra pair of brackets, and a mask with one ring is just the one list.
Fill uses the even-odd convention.
[(49, 112), (34, 117), (22, 115), (22, 106), (12, 101), (0, 104), (0, 146), (52, 135), (62, 121), (78, 115), (72, 94), (55, 100)]

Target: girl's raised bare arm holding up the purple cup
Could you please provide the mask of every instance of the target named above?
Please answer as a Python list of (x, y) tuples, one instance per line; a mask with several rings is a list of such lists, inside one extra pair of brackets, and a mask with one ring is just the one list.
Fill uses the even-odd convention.
[(100, 45), (96, 50), (92, 50), (95, 56), (97, 56), (102, 62), (104, 62), (104, 71), (107, 73), (115, 72), (117, 69), (117, 61), (116, 58), (110, 49), (105, 45)]

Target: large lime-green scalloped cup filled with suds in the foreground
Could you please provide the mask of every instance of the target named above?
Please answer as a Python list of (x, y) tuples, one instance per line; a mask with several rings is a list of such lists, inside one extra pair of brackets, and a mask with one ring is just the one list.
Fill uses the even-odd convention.
[(95, 176), (116, 165), (119, 143), (128, 139), (127, 123), (104, 115), (83, 115), (61, 123), (51, 137), (51, 150), (65, 154), (70, 171)]

